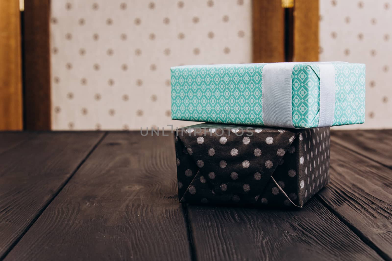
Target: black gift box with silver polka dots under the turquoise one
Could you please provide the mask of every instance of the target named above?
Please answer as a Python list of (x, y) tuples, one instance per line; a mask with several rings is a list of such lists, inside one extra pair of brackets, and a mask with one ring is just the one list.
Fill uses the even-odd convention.
[(329, 182), (330, 128), (175, 131), (181, 203), (302, 207)]

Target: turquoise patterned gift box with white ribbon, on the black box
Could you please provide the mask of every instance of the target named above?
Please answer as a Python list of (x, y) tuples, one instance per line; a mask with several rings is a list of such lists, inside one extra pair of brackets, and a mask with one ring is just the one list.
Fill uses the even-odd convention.
[(172, 119), (285, 128), (365, 121), (365, 65), (345, 62), (171, 68)]

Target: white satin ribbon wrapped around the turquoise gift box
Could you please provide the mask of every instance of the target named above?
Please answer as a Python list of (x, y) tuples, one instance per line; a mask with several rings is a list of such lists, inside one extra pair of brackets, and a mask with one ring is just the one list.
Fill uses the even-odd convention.
[[(330, 62), (316, 63), (320, 69), (320, 100), (318, 127), (334, 122), (335, 68)], [(294, 128), (292, 121), (292, 70), (303, 63), (269, 63), (263, 67), (261, 100), (265, 126)]]

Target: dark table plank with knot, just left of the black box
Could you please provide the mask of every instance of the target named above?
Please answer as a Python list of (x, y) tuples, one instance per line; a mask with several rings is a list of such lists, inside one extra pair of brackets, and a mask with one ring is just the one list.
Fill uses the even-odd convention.
[(109, 133), (5, 260), (189, 260), (173, 136)]

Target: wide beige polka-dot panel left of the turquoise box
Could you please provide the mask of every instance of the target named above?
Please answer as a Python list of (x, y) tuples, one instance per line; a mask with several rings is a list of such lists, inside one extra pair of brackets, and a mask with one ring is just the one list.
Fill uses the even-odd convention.
[(51, 2), (54, 130), (187, 126), (170, 67), (251, 62), (250, 0)]

